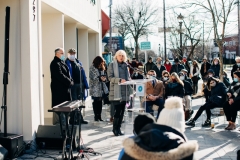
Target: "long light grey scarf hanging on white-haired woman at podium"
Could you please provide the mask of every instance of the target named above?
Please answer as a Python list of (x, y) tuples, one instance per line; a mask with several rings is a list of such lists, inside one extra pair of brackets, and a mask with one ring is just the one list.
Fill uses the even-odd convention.
[[(119, 78), (118, 62), (117, 60), (113, 61), (113, 74), (114, 77)], [(121, 86), (114, 84), (114, 100), (121, 100)]]

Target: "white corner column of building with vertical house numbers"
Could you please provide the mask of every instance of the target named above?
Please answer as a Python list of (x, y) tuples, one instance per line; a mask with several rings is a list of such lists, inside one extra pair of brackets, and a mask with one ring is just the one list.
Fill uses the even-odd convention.
[[(35, 3), (35, 6), (37, 3)], [(33, 3), (29, 0), (20, 1), (21, 21), (21, 85), (23, 136), (30, 140), (41, 123), (40, 92), (39, 92), (39, 39), (37, 12), (33, 17)]]

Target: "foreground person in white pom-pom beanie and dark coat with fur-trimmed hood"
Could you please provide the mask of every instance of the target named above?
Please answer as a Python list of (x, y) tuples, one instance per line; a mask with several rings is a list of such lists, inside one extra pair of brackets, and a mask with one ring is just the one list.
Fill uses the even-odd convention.
[(167, 99), (157, 124), (147, 124), (137, 136), (123, 141), (120, 160), (192, 160), (198, 143), (188, 141), (184, 134), (182, 105), (181, 98)]

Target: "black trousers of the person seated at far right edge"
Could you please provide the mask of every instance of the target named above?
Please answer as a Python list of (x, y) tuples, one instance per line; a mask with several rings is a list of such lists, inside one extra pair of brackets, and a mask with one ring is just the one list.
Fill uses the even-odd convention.
[(224, 103), (223, 110), (227, 117), (227, 121), (231, 121), (234, 123), (236, 122), (237, 112), (240, 110), (240, 105), (237, 103), (239, 102), (234, 102), (232, 105), (230, 105), (228, 101)]

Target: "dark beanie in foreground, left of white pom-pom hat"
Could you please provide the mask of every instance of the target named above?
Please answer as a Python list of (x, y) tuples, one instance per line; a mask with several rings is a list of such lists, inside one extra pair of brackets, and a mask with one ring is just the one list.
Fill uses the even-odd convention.
[(145, 125), (150, 123), (155, 123), (155, 122), (156, 122), (155, 118), (151, 114), (149, 113), (139, 114), (134, 120), (134, 125), (133, 125), (134, 132), (138, 135), (140, 130)]

